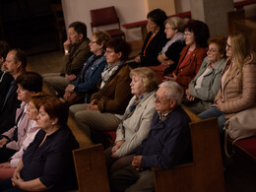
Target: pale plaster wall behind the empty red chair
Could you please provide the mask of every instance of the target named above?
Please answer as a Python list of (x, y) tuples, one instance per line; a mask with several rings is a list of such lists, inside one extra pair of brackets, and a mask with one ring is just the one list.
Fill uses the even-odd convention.
[[(147, 0), (62, 0), (66, 28), (72, 22), (84, 22), (88, 27), (88, 36), (91, 37), (90, 10), (108, 6), (115, 6), (121, 26), (123, 24), (146, 20), (149, 11)], [(100, 30), (107, 30), (111, 27), (112, 26), (106, 26), (100, 28)], [(133, 30), (122, 28), (122, 30), (126, 34), (127, 41), (142, 38), (140, 28)]]

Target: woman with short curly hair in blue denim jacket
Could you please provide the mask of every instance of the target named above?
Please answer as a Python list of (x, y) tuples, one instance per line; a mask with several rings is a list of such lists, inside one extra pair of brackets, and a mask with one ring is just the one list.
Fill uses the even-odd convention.
[(65, 100), (69, 100), (70, 96), (76, 93), (83, 95), (77, 102), (90, 102), (91, 96), (97, 91), (96, 82), (106, 65), (104, 52), (105, 44), (109, 39), (110, 35), (107, 32), (98, 31), (93, 33), (89, 46), (94, 54), (84, 64), (79, 78), (74, 82), (70, 82), (67, 86), (63, 96)]

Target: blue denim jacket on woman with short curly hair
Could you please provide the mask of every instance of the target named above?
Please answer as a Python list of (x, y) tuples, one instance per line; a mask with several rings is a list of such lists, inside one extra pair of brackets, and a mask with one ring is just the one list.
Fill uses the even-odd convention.
[[(87, 62), (84, 64), (83, 69), (86, 68), (87, 65), (91, 63), (94, 59), (95, 55), (92, 55)], [(101, 76), (101, 72), (103, 71), (106, 65), (105, 57), (102, 55), (96, 62), (87, 70), (84, 77), (80, 75), (80, 77), (74, 81), (70, 82), (70, 84), (75, 85), (74, 92), (88, 94), (90, 97), (97, 92), (96, 83)], [(83, 71), (82, 69), (82, 71)]]

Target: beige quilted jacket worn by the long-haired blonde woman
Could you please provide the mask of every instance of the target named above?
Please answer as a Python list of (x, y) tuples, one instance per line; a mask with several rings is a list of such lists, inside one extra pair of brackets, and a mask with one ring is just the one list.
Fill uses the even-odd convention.
[[(224, 71), (227, 66), (224, 67)], [(256, 55), (250, 54), (243, 64), (242, 81), (239, 81), (240, 72), (237, 70), (232, 76), (224, 80), (224, 88), (219, 91), (215, 100), (224, 96), (221, 111), (225, 118), (230, 118), (238, 111), (252, 107), (256, 103)]]

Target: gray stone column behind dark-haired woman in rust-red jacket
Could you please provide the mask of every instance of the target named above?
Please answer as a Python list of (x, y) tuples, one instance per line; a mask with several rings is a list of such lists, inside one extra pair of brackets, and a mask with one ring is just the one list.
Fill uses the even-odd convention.
[(233, 0), (190, 0), (191, 16), (205, 22), (211, 35), (227, 36), (226, 13), (233, 11)]

